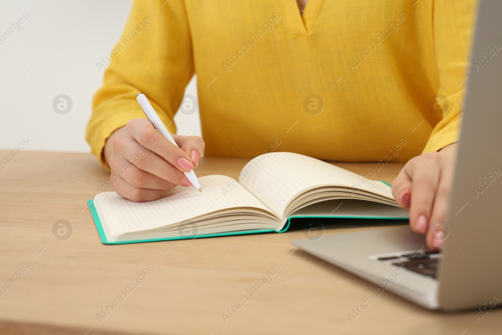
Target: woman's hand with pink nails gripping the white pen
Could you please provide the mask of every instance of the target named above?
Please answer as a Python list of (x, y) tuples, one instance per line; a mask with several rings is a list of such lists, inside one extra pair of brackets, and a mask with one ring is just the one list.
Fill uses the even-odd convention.
[(183, 172), (197, 167), (204, 141), (198, 136), (172, 136), (178, 147), (146, 119), (131, 120), (113, 132), (103, 152), (113, 190), (133, 201), (151, 201), (176, 185), (191, 186)]

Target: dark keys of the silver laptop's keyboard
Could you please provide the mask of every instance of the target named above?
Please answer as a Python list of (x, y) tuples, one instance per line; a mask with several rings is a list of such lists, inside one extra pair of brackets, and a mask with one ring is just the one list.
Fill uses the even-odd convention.
[(420, 273), (436, 279), (438, 260), (441, 258), (438, 251), (425, 250), (413, 254), (402, 254), (399, 256), (379, 257), (379, 261), (396, 260), (392, 263), (395, 266), (406, 266), (406, 269)]

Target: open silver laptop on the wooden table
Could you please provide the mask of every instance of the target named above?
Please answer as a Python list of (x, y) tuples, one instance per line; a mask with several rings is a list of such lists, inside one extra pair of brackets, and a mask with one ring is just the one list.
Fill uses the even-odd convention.
[(445, 234), (441, 252), (427, 250), (425, 237), (415, 234), (409, 226), (302, 239), (293, 241), (293, 245), (378, 285), (379, 291), (394, 292), (426, 308), (454, 311), (499, 303), (501, 15), (501, 1), (479, 2), (452, 198), (448, 218), (442, 224)]

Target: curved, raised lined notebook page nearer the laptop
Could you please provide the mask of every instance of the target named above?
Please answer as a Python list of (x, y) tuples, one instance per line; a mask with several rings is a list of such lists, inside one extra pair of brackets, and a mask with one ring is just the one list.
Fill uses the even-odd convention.
[[(240, 176), (240, 183), (279, 217), (291, 198), (312, 186), (342, 185), (394, 199), (391, 188), (380, 181), (366, 182), (358, 174), (291, 152), (258, 156), (244, 166)], [(360, 187), (352, 184), (357, 182)]]

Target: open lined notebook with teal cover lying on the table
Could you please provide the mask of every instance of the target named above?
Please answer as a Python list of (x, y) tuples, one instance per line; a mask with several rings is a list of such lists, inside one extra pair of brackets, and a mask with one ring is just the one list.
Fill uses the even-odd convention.
[(293, 217), (408, 218), (386, 183), (295, 153), (258, 156), (239, 181), (204, 176), (202, 192), (176, 186), (149, 202), (102, 192), (89, 208), (105, 244), (284, 232)]

